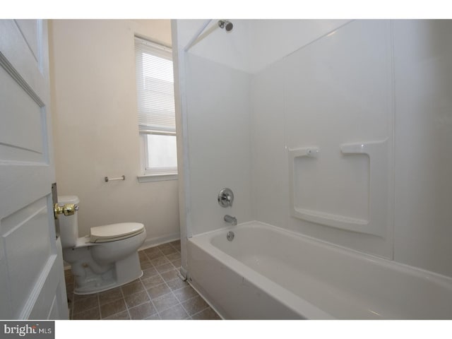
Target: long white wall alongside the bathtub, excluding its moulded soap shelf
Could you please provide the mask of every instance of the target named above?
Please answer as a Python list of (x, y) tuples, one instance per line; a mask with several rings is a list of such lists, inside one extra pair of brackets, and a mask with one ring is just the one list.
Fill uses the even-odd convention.
[[(349, 23), (252, 78), (256, 219), (452, 276), (447, 259), (452, 256), (452, 49), (447, 33), (452, 23), (382, 24), (375, 29), (371, 26), (379, 23), (374, 20)], [(358, 129), (349, 131), (347, 123)], [(393, 212), (382, 224), (385, 237), (290, 217), (285, 146), (316, 145), (331, 135), (378, 139), (385, 133), (393, 139), (393, 155), (388, 154), (394, 181), (388, 197)], [(321, 189), (321, 182), (316, 184)], [(343, 195), (350, 198), (351, 192)]]

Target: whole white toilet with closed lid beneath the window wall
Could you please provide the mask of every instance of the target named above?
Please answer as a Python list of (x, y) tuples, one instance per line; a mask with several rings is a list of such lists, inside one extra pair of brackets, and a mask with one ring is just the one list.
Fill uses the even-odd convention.
[[(59, 205), (79, 203), (77, 196), (59, 196)], [(74, 293), (88, 295), (130, 283), (143, 275), (138, 249), (146, 239), (144, 225), (121, 222), (91, 227), (78, 237), (78, 208), (59, 217), (64, 261), (76, 280)]]

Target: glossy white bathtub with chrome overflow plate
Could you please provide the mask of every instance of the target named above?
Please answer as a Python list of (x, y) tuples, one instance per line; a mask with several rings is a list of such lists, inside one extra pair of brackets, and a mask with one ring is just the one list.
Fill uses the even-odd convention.
[(452, 319), (452, 278), (272, 225), (187, 246), (191, 285), (224, 319)]

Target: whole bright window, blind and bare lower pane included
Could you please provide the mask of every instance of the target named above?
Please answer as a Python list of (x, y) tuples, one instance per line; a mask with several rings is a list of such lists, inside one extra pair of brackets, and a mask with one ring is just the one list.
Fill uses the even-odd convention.
[(177, 149), (171, 49), (135, 37), (135, 59), (143, 174), (175, 179)]

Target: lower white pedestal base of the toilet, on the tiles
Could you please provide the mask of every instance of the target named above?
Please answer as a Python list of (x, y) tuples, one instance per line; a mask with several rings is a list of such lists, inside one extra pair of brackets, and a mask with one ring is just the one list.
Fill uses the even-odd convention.
[(85, 267), (84, 270), (84, 278), (76, 276), (76, 286), (73, 290), (76, 295), (90, 295), (111, 290), (112, 288), (131, 283), (143, 275), (138, 252), (133, 252), (127, 258), (113, 263), (102, 274), (94, 273), (89, 266)]

